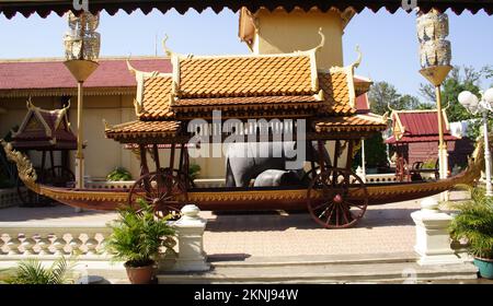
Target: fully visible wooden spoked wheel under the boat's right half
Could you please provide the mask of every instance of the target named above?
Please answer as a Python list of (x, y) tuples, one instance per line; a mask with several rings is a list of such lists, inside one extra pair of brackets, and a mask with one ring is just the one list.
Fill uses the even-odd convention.
[(325, 228), (346, 228), (365, 214), (368, 191), (351, 169), (325, 168), (311, 181), (307, 195), (308, 211)]

